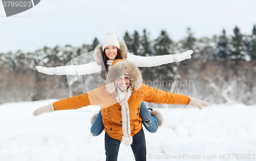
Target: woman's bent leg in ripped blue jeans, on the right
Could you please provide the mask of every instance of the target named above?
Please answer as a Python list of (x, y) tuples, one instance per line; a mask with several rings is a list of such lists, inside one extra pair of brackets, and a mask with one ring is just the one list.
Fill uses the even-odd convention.
[(144, 102), (140, 105), (140, 117), (144, 127), (154, 133), (158, 129), (158, 118), (156, 116), (151, 116), (151, 113), (147, 110)]

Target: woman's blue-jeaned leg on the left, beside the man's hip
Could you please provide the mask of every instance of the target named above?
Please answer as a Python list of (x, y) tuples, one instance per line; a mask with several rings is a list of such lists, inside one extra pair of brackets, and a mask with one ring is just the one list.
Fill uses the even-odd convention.
[(100, 133), (104, 130), (104, 125), (102, 122), (102, 115), (101, 115), (101, 111), (99, 111), (92, 127), (91, 127), (91, 133), (92, 136), (98, 136), (100, 135)]

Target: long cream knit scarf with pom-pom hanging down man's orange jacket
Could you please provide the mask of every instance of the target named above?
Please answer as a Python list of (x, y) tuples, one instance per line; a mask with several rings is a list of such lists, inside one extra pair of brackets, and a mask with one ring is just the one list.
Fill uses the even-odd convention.
[(129, 146), (133, 143), (133, 138), (131, 137), (131, 125), (130, 125), (130, 112), (129, 112), (129, 104), (127, 100), (132, 95), (133, 88), (129, 87), (127, 90), (122, 92), (119, 88), (117, 88), (117, 96), (116, 99), (118, 103), (120, 103), (122, 107), (122, 142), (124, 145)]

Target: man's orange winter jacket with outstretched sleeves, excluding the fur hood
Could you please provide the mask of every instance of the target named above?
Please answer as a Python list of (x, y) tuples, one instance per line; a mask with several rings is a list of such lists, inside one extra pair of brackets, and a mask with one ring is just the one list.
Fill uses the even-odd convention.
[[(185, 95), (165, 92), (145, 84), (139, 90), (133, 89), (133, 94), (128, 100), (130, 110), (131, 136), (136, 135), (142, 128), (142, 120), (139, 116), (142, 101), (166, 104), (188, 104), (190, 98)], [(88, 105), (100, 105), (104, 130), (111, 138), (122, 141), (122, 115), (121, 105), (116, 100), (116, 93), (109, 93), (105, 86), (99, 86), (95, 90), (61, 99), (53, 103), (55, 111), (79, 109)]]

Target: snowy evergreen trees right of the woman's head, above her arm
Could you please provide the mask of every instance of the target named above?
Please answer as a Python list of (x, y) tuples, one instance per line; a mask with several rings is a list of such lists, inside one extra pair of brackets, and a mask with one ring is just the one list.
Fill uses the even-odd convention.
[(232, 36), (227, 36), (225, 29), (222, 34), (209, 38), (196, 39), (190, 28), (187, 29), (187, 37), (179, 42), (174, 42), (166, 33), (161, 31), (160, 36), (152, 41), (150, 36), (143, 30), (140, 36), (138, 31), (134, 34), (128, 32), (124, 40), (130, 52), (140, 56), (165, 55), (166, 53), (183, 52), (185, 50), (200, 51), (202, 47), (211, 46), (214, 48), (215, 59), (231, 59), (234, 61), (256, 59), (256, 26), (253, 26), (251, 35), (243, 35), (238, 26), (233, 30)]

